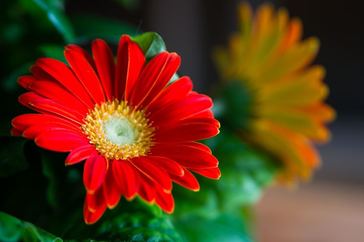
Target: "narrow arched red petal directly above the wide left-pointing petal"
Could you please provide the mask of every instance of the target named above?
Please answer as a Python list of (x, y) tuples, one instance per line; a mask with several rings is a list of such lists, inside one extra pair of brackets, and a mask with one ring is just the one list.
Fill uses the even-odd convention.
[(22, 135), (28, 139), (35, 139), (40, 133), (47, 130), (70, 130), (72, 132), (79, 133), (80, 135), (83, 134), (80, 129), (74, 128), (73, 126), (67, 124), (46, 122), (30, 126), (23, 131)]

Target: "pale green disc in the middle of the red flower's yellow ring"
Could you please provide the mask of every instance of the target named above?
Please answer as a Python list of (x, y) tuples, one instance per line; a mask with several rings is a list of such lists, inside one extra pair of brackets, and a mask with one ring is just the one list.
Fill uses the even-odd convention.
[(123, 146), (131, 145), (138, 136), (136, 130), (129, 120), (122, 116), (111, 116), (103, 125), (105, 137), (113, 144)]

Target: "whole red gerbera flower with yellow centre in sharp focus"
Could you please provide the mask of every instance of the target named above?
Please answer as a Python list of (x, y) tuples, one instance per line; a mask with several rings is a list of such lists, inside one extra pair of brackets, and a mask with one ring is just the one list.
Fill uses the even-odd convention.
[(86, 223), (95, 223), (121, 195), (137, 194), (173, 212), (171, 181), (199, 190), (192, 170), (217, 179), (211, 150), (194, 140), (216, 135), (219, 123), (211, 99), (192, 91), (184, 76), (167, 86), (180, 57), (162, 52), (146, 64), (142, 50), (122, 36), (117, 63), (107, 43), (92, 42), (91, 57), (75, 45), (64, 55), (69, 66), (40, 58), (21, 76), (22, 105), (40, 113), (13, 119), (12, 134), (38, 146), (69, 152), (66, 165), (86, 160)]

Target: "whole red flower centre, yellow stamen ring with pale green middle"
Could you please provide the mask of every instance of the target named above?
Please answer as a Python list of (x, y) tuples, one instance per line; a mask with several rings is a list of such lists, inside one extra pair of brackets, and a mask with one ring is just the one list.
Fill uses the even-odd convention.
[(146, 155), (153, 145), (154, 129), (145, 113), (128, 102), (115, 99), (96, 105), (84, 121), (81, 128), (90, 143), (109, 160)]

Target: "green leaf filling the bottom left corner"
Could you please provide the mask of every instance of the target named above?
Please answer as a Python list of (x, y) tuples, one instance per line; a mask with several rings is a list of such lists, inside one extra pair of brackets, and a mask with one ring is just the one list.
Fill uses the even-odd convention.
[(0, 212), (0, 241), (62, 242), (60, 238), (34, 224), (21, 221), (4, 212)]

